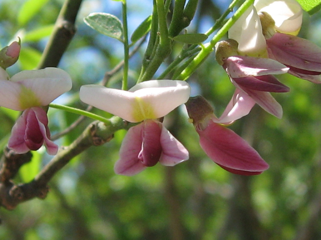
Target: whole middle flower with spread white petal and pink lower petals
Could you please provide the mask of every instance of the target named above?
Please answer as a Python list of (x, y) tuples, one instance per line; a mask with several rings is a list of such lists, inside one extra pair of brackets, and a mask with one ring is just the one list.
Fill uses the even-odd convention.
[(185, 103), (190, 86), (180, 80), (149, 80), (128, 91), (99, 85), (84, 85), (80, 99), (130, 122), (119, 150), (114, 170), (117, 174), (134, 175), (159, 163), (173, 166), (189, 158), (187, 149), (158, 118)]

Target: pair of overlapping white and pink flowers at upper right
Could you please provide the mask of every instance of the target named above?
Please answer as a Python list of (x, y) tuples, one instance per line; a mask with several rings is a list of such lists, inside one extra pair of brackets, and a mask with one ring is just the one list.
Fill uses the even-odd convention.
[(216, 58), (236, 88), (279, 118), (282, 107), (270, 92), (289, 88), (272, 74), (321, 83), (321, 48), (296, 36), (301, 23), (297, 1), (255, 0), (229, 29), (229, 39), (216, 45)]

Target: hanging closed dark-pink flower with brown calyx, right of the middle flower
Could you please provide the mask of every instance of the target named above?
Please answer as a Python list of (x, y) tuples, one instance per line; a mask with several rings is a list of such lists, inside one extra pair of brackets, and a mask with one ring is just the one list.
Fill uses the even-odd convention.
[[(268, 164), (253, 147), (222, 124), (205, 98), (190, 97), (185, 104), (200, 136), (201, 147), (219, 166), (241, 175), (257, 175), (268, 168)], [(234, 115), (229, 120), (234, 121), (237, 117)]]

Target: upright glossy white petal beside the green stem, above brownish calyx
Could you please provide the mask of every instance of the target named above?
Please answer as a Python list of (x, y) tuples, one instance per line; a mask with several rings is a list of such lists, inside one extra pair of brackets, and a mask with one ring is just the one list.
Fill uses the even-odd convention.
[(234, 23), (228, 35), (239, 43), (238, 50), (241, 54), (251, 56), (265, 54), (266, 42), (260, 18), (253, 6), (250, 6)]

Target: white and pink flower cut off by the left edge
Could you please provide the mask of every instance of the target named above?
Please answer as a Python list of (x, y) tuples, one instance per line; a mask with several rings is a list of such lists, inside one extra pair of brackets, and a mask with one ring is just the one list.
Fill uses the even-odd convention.
[(0, 105), (24, 111), (13, 126), (8, 147), (22, 154), (45, 144), (49, 154), (56, 154), (58, 146), (50, 140), (47, 114), (41, 106), (48, 105), (71, 86), (68, 73), (55, 67), (25, 70), (11, 78), (0, 68)]

